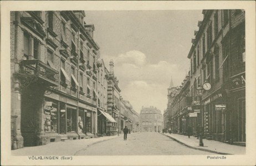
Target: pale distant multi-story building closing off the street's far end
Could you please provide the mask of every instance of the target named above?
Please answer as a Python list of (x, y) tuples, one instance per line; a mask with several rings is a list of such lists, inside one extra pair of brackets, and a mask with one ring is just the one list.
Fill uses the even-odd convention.
[(142, 107), (140, 111), (140, 124), (142, 132), (162, 131), (163, 116), (156, 107)]

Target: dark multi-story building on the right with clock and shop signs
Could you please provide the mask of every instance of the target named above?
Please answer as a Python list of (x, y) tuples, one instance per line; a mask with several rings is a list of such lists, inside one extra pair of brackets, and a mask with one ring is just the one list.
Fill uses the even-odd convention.
[[(203, 10), (203, 15), (188, 54), (189, 124), (202, 126), (208, 139), (245, 142), (245, 13)], [(179, 112), (177, 106), (172, 115)]]

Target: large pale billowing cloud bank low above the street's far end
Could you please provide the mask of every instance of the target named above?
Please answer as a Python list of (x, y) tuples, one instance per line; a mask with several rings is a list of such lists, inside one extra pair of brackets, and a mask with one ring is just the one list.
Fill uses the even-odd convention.
[[(132, 50), (116, 57), (114, 73), (119, 80), (121, 96), (129, 100), (135, 111), (140, 112), (142, 106), (155, 106), (162, 112), (167, 105), (167, 88), (171, 76), (175, 85), (180, 85), (186, 75), (182, 66), (167, 61), (147, 63), (146, 55)], [(109, 68), (108, 65), (106, 65)]]

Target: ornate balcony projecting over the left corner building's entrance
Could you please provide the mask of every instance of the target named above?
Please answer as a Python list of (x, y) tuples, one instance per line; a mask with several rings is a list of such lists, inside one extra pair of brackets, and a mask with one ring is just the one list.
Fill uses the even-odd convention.
[(23, 78), (23, 86), (32, 82), (39, 82), (47, 86), (59, 86), (59, 71), (51, 68), (40, 60), (23, 60), (20, 63), (21, 70), (17, 74)]

